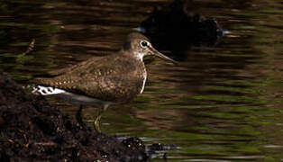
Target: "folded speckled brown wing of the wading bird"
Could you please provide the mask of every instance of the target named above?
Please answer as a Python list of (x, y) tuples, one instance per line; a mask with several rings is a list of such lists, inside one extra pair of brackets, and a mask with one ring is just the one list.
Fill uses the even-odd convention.
[(136, 66), (132, 65), (132, 61), (121, 61), (118, 57), (104, 57), (98, 61), (88, 59), (69, 67), (63, 75), (38, 78), (36, 82), (40, 85), (50, 85), (68, 92), (87, 94), (97, 99), (116, 102), (121, 98), (131, 100), (142, 87), (140, 82), (131, 75), (135, 71)]

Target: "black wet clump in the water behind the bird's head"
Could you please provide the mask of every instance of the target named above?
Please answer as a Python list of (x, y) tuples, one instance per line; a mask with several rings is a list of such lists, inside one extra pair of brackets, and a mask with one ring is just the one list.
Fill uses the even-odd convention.
[(140, 30), (157, 49), (187, 50), (190, 45), (213, 45), (224, 31), (215, 18), (205, 18), (193, 11), (193, 1), (176, 0), (169, 6), (155, 8), (141, 23)]

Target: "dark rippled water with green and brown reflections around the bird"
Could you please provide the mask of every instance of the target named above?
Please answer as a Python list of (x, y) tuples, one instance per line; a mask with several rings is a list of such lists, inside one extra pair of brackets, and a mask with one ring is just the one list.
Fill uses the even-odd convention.
[[(163, 4), (169, 2), (1, 1), (0, 69), (26, 83), (110, 54)], [(215, 47), (193, 47), (179, 66), (147, 64), (144, 93), (105, 112), (103, 131), (177, 145), (168, 161), (283, 161), (282, 2), (199, 1), (197, 9), (231, 34)], [(32, 39), (35, 50), (22, 56)], [(84, 110), (89, 121), (95, 113)]]

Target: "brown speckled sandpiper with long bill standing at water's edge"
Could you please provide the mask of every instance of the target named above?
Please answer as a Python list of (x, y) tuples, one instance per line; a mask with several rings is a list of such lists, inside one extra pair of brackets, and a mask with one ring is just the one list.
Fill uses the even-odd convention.
[(142, 33), (132, 32), (122, 48), (112, 55), (88, 58), (71, 67), (51, 71), (51, 77), (35, 78), (32, 93), (59, 95), (70, 103), (78, 103), (78, 121), (81, 121), (83, 105), (98, 107), (94, 126), (101, 132), (100, 118), (110, 105), (131, 102), (142, 94), (147, 80), (145, 56), (156, 56), (178, 64), (154, 49)]

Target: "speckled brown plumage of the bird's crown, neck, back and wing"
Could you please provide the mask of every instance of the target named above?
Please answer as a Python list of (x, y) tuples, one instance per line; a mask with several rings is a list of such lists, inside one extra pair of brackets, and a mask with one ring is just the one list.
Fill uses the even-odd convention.
[(129, 102), (140, 94), (146, 76), (142, 59), (133, 54), (133, 50), (141, 49), (137, 47), (141, 40), (148, 39), (142, 34), (132, 33), (123, 48), (113, 55), (90, 58), (51, 72), (56, 75), (54, 77), (37, 78), (35, 81), (39, 85), (50, 85), (103, 101)]

